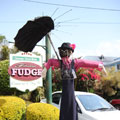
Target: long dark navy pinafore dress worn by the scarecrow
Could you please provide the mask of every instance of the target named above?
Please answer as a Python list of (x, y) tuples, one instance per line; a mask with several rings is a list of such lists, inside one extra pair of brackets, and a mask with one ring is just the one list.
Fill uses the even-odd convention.
[(60, 120), (78, 120), (77, 104), (74, 95), (74, 73), (74, 61), (69, 66), (61, 64), (62, 100)]

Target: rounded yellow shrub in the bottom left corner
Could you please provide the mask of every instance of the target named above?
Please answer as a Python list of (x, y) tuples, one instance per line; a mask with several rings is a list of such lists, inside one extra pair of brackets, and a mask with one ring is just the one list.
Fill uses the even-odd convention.
[(25, 101), (14, 96), (0, 96), (0, 120), (24, 120)]

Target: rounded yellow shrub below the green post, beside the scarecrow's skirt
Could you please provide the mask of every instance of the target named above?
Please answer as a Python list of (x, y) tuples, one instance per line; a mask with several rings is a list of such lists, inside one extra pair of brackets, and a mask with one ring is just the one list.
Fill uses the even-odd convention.
[(27, 120), (59, 120), (59, 109), (46, 103), (32, 103), (27, 107)]

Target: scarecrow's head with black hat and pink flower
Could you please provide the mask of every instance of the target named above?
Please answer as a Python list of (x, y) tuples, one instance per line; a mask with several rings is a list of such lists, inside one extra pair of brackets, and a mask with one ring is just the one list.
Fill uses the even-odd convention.
[(63, 43), (59, 49), (60, 57), (70, 57), (70, 55), (74, 52), (75, 44)]

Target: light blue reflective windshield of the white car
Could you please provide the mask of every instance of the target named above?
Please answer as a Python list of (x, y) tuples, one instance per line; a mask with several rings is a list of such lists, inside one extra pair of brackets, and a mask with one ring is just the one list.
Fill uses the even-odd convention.
[(113, 109), (106, 100), (97, 95), (77, 95), (78, 99), (88, 111)]

